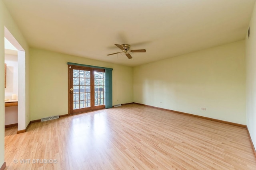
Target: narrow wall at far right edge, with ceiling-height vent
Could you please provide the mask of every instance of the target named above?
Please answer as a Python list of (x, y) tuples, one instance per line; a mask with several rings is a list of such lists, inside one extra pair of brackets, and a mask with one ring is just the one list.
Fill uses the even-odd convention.
[(250, 21), (250, 37), (246, 35), (246, 115), (247, 128), (256, 147), (256, 4)]

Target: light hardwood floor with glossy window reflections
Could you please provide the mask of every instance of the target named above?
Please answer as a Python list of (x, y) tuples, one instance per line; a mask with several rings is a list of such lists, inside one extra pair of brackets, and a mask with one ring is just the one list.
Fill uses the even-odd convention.
[(256, 169), (246, 129), (137, 104), (16, 130), (6, 129), (6, 170)]

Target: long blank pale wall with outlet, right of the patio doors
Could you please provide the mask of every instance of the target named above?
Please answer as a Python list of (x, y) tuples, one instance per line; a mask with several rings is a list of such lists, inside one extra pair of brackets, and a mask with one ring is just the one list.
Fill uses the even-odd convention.
[(246, 125), (244, 41), (136, 66), (133, 75), (136, 103)]

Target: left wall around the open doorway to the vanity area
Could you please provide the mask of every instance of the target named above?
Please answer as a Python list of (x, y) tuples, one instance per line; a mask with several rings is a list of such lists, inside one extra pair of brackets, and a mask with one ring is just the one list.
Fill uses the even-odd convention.
[(0, 166), (4, 163), (4, 26), (12, 33), (18, 43), (22, 46), (22, 48), (27, 52), (26, 53), (26, 80), (25, 80), (25, 95), (26, 101), (24, 101), (26, 107), (26, 115), (23, 117), (22, 122), (24, 126), (28, 125), (30, 122), (30, 112), (29, 112), (29, 53), (28, 53), (28, 45), (26, 40), (24, 39), (22, 33), (18, 29), (16, 23), (12, 19), (12, 16), (8, 12), (6, 6), (0, 0)]

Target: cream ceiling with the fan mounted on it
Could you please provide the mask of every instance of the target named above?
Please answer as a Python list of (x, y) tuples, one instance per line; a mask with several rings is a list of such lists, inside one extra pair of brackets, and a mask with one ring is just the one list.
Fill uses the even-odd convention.
[[(242, 40), (255, 0), (3, 0), (30, 47), (137, 66)], [(125, 55), (114, 44), (146, 53)]]

